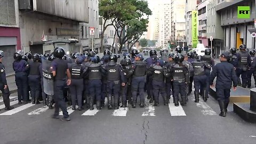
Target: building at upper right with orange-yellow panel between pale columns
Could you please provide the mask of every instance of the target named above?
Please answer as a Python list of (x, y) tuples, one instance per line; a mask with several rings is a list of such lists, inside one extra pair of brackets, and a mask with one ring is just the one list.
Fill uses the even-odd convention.
[[(255, 0), (237, 1), (215, 1), (215, 10), (220, 14), (221, 27), (223, 28), (224, 41), (223, 51), (230, 47), (238, 48), (240, 44), (245, 44), (247, 48), (255, 49), (255, 37), (251, 36), (256, 19)], [(238, 6), (250, 6), (250, 18), (238, 19)]]

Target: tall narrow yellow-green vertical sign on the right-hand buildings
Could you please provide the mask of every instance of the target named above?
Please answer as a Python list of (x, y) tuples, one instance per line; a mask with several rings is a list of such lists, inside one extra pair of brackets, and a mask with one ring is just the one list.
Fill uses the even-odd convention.
[(192, 11), (192, 48), (196, 47), (198, 43), (198, 37), (197, 37), (197, 11)]

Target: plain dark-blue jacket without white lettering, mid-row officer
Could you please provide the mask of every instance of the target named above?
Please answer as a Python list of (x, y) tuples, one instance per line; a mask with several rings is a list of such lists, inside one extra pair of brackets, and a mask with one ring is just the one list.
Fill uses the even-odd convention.
[(147, 62), (145, 61), (138, 60), (132, 62), (133, 77), (145, 76), (147, 69)]

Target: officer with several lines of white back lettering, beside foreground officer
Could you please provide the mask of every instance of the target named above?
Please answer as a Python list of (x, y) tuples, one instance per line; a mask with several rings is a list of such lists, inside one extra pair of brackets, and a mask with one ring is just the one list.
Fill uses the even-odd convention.
[(71, 74), (71, 84), (69, 86), (71, 93), (72, 109), (76, 110), (76, 102), (78, 104), (78, 110), (83, 110), (82, 108), (82, 93), (84, 89), (83, 75), (85, 73), (85, 66), (81, 65), (83, 58), (78, 56), (76, 58), (76, 63), (72, 63), (69, 67)]

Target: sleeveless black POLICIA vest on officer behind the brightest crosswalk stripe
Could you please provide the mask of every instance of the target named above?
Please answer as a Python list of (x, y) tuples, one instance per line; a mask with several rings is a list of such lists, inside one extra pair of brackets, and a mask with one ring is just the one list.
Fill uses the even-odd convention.
[(173, 81), (174, 82), (185, 82), (185, 74), (184, 74), (184, 69), (185, 67), (182, 67), (178, 64), (172, 65), (173, 69)]

